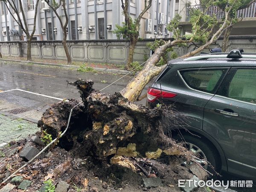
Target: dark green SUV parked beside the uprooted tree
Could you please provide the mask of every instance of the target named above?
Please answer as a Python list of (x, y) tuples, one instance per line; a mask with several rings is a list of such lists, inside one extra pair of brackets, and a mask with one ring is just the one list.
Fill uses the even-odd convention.
[(188, 117), (169, 129), (201, 163), (256, 180), (256, 53), (172, 60), (147, 96), (149, 107), (173, 105)]

